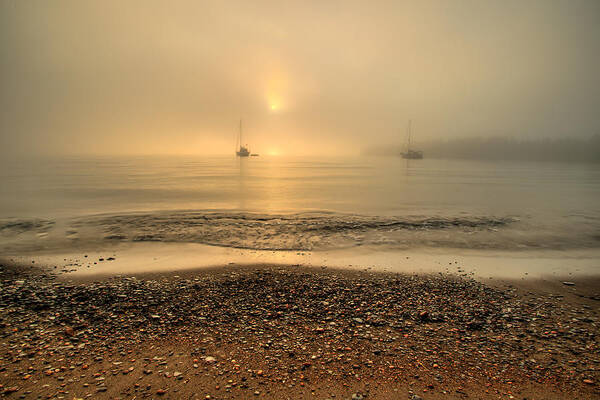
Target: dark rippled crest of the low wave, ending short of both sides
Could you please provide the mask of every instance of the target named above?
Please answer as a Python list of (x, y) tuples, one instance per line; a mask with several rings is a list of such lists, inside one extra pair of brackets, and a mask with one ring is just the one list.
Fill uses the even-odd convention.
[[(177, 212), (84, 218), (107, 240), (194, 242), (257, 250), (314, 250), (377, 244), (394, 232), (485, 230), (513, 222), (493, 217), (373, 217), (336, 213)], [(394, 239), (390, 236), (389, 240)], [(385, 241), (385, 240), (384, 240)]]

